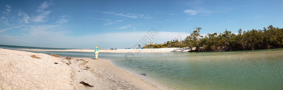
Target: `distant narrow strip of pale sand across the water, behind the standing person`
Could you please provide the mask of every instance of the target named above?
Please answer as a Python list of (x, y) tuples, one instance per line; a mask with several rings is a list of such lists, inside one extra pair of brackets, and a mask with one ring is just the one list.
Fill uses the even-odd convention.
[[(195, 49), (195, 47), (193, 48)], [(57, 51), (57, 52), (94, 52), (94, 49), (66, 49), (66, 50), (50, 50), (50, 49), (20, 49), (26, 51)], [(99, 49), (99, 52), (107, 52), (107, 53), (155, 53), (155, 52), (188, 52), (191, 48), (158, 48), (158, 49)]]

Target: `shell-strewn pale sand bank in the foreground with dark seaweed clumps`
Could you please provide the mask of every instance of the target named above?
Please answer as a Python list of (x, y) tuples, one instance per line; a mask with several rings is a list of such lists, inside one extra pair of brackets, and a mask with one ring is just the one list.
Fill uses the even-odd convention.
[(161, 89), (104, 59), (58, 58), (43, 53), (0, 49), (0, 68), (0, 90)]

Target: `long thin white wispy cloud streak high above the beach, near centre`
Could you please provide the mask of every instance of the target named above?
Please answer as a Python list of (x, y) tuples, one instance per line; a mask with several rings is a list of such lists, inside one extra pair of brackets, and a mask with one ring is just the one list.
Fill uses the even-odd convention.
[(116, 16), (123, 16), (123, 17), (128, 17), (128, 18), (133, 18), (133, 19), (135, 19), (135, 18), (152, 19), (152, 17), (147, 15), (147, 14), (138, 14), (138, 13), (123, 14), (123, 13), (115, 13), (114, 11), (109, 12), (109, 11), (98, 11), (98, 10), (92, 10), (92, 11), (101, 12), (101, 13), (104, 13), (104, 14), (113, 14), (113, 15), (116, 15)]

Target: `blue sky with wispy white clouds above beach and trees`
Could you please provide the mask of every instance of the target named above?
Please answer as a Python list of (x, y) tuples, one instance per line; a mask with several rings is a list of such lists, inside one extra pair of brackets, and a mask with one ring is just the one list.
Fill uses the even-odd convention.
[[(282, 0), (1, 0), (0, 44), (135, 48), (225, 29), (283, 28)], [(179, 37), (178, 37), (179, 36)], [(181, 37), (180, 37), (181, 36)]]

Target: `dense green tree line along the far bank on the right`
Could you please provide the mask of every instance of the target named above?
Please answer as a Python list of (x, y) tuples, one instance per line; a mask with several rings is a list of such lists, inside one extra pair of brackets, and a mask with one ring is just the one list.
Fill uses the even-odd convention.
[[(175, 40), (161, 44), (148, 44), (143, 48), (172, 48), (190, 47), (194, 52), (207, 51), (234, 51), (234, 50), (253, 50), (283, 47), (283, 29), (269, 25), (263, 30), (238, 30), (238, 34), (225, 30), (223, 33), (200, 35), (200, 27), (194, 27), (190, 35), (182, 40), (181, 34)], [(179, 39), (180, 38), (180, 39)], [(193, 50), (193, 47), (196, 49)]]

